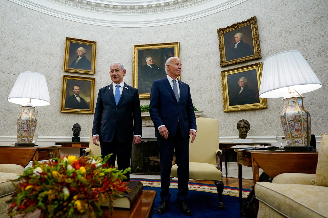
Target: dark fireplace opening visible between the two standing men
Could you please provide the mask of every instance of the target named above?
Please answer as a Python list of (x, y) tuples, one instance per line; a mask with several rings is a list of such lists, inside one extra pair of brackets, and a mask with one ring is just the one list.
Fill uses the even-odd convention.
[(156, 138), (142, 138), (133, 145), (131, 174), (160, 175), (159, 149)]

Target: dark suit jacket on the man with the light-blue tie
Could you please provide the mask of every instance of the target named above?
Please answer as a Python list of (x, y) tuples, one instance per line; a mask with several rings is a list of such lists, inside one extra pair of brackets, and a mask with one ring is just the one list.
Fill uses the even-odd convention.
[(97, 134), (100, 142), (111, 142), (115, 128), (120, 142), (132, 143), (134, 135), (142, 135), (138, 90), (126, 83), (117, 106), (114, 100), (113, 83), (99, 89), (98, 93), (92, 136)]

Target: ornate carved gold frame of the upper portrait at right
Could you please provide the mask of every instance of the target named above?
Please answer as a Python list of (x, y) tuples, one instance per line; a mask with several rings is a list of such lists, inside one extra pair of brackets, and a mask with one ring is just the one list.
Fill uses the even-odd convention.
[[(247, 25), (251, 25), (251, 29), (252, 29), (254, 55), (226, 61), (226, 47), (224, 45), (224, 33), (236, 30), (240, 27), (245, 27)], [(235, 24), (225, 27), (225, 28), (219, 28), (219, 29), (217, 29), (217, 35), (219, 37), (219, 51), (220, 51), (220, 66), (221, 67), (261, 58), (261, 48), (260, 48), (260, 40), (259, 40), (259, 36), (258, 36), (256, 16), (251, 17), (250, 19), (248, 19), (246, 21), (235, 23)]]

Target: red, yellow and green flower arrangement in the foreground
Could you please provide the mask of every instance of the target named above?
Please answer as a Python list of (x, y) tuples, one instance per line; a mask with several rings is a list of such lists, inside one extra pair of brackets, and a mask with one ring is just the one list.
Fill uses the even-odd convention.
[(113, 212), (113, 200), (120, 197), (126, 187), (123, 175), (127, 168), (119, 171), (108, 168), (107, 160), (95, 157), (67, 156), (53, 158), (47, 162), (35, 162), (18, 178), (8, 209), (9, 215), (41, 210), (41, 217), (72, 217), (85, 214), (98, 217), (100, 206), (109, 202)]

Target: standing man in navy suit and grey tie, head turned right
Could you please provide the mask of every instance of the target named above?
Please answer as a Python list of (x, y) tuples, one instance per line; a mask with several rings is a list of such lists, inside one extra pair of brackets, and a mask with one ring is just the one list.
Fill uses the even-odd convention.
[(189, 178), (189, 137), (196, 137), (196, 118), (189, 85), (177, 79), (181, 73), (181, 61), (169, 58), (165, 63), (167, 77), (155, 80), (150, 93), (150, 116), (154, 122), (161, 162), (161, 203), (158, 214), (169, 209), (171, 194), (170, 173), (175, 149), (178, 166), (177, 207), (185, 215), (192, 212), (186, 204)]

